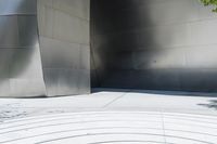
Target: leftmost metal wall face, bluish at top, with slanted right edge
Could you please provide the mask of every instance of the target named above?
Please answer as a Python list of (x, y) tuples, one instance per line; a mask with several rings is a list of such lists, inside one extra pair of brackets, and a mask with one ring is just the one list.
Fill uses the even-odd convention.
[(0, 0), (0, 96), (46, 94), (36, 0)]

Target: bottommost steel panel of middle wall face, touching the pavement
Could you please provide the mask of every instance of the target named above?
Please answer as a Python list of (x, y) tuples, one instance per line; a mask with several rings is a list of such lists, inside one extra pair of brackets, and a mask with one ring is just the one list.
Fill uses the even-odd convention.
[(43, 71), (49, 96), (90, 92), (89, 70), (44, 68)]

